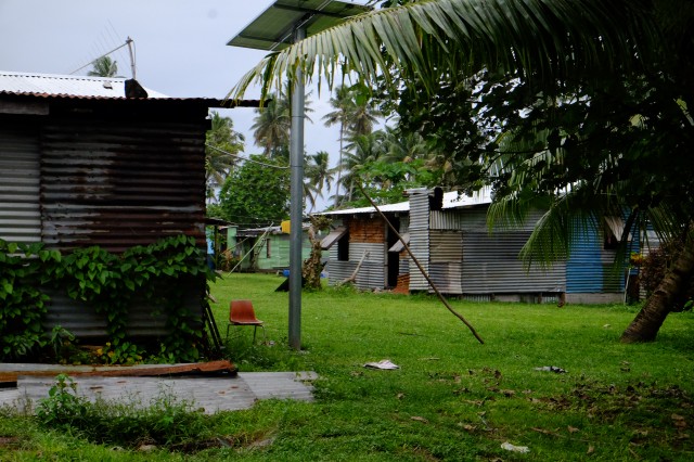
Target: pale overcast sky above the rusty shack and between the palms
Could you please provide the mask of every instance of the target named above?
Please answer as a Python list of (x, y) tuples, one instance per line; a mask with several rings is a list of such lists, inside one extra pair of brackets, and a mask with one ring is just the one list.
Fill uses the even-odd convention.
[[(227, 42), (273, 0), (0, 0), (0, 70), (70, 74), (101, 54), (134, 40), (137, 78), (179, 98), (223, 98), (266, 52)], [(361, 2), (363, 3), (363, 2)], [(112, 54), (119, 75), (130, 77), (127, 48)], [(91, 66), (78, 75), (86, 75)], [(308, 89), (310, 90), (310, 89)], [(255, 99), (258, 92), (247, 93)], [(325, 128), (330, 94), (313, 92), (307, 152), (327, 151), (337, 161), (338, 128)], [(254, 145), (252, 108), (224, 112)]]

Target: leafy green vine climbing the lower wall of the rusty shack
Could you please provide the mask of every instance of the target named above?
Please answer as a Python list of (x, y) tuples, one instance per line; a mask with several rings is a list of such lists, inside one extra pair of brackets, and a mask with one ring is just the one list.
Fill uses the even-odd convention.
[[(169, 361), (200, 358), (202, 320), (183, 300), (191, 284), (215, 274), (195, 240), (178, 235), (116, 255), (98, 246), (62, 255), (43, 244), (0, 240), (0, 360), (20, 358), (46, 345), (42, 321), (49, 293), (63, 291), (102, 316), (108, 336), (104, 362), (133, 362), (142, 348), (127, 339), (128, 313), (133, 304), (166, 315), (170, 334), (154, 352)], [(206, 303), (205, 300), (201, 300)]]

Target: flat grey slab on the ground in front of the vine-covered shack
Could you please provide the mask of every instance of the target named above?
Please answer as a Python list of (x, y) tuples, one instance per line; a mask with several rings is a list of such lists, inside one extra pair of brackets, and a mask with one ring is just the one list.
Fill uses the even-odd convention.
[[(103, 399), (146, 407), (163, 397), (190, 403), (206, 413), (248, 409), (259, 399), (311, 401), (312, 372), (241, 372), (235, 377), (73, 377), (77, 394), (90, 401)], [(16, 388), (0, 389), (0, 407), (33, 412), (48, 397), (52, 377), (21, 375)]]

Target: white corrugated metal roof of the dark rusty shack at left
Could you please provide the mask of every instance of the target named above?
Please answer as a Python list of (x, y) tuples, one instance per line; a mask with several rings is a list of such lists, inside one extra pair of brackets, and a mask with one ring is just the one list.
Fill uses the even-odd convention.
[[(0, 93), (63, 95), (72, 98), (123, 98), (126, 79), (0, 70)], [(168, 98), (145, 88), (149, 98)]]

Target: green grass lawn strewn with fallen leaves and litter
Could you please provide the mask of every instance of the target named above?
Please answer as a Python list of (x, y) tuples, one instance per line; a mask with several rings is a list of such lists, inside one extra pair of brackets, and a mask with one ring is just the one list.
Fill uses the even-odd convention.
[[(314, 402), (217, 414), (208, 432), (229, 447), (185, 454), (113, 451), (10, 415), (0, 437), (29, 442), (0, 446), (0, 460), (694, 460), (692, 313), (671, 315), (654, 344), (622, 345), (634, 307), (451, 300), (481, 345), (435, 297), (330, 288), (304, 294), (297, 352), (281, 282), (224, 277), (213, 310), (223, 336), (229, 300), (252, 299), (269, 342), (253, 346), (252, 329), (232, 328), (228, 357), (241, 371), (316, 371)], [(400, 369), (363, 367), (381, 359)], [(535, 370), (545, 365), (567, 372)]]

